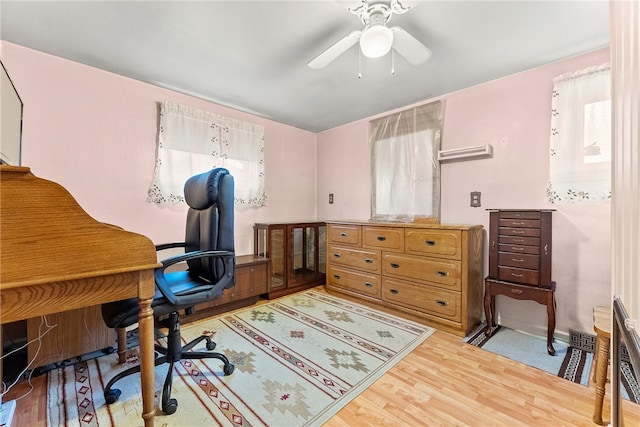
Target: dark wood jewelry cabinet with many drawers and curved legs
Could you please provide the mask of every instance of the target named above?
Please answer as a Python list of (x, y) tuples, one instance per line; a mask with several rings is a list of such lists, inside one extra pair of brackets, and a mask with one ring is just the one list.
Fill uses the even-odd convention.
[(547, 351), (555, 354), (556, 283), (551, 280), (552, 210), (493, 210), (489, 215), (489, 275), (485, 278), (485, 334), (496, 326), (496, 295), (547, 307)]

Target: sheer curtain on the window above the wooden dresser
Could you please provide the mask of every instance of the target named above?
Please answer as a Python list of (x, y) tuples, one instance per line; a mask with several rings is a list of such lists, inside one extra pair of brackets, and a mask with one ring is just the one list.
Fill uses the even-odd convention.
[(439, 219), (441, 130), (440, 101), (371, 121), (372, 219)]

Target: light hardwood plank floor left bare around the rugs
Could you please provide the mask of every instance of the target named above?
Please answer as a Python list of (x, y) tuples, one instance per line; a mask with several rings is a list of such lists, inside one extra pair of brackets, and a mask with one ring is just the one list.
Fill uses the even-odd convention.
[[(17, 402), (14, 426), (46, 425), (46, 377), (32, 385)], [(18, 384), (4, 400), (29, 389)], [(593, 385), (569, 382), (436, 331), (325, 425), (595, 426), (594, 395)], [(608, 384), (605, 420), (610, 395)], [(625, 425), (640, 426), (640, 405), (625, 401), (623, 409)]]

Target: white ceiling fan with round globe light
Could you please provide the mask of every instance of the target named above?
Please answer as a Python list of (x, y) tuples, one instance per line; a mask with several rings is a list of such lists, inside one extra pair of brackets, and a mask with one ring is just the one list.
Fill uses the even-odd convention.
[(362, 0), (359, 6), (349, 8), (351, 13), (358, 15), (364, 28), (350, 32), (307, 65), (313, 69), (323, 68), (358, 41), (362, 54), (368, 58), (380, 58), (393, 48), (413, 65), (427, 61), (431, 57), (428, 47), (400, 27), (387, 27), (393, 14), (401, 15), (411, 9), (411, 6), (405, 6), (403, 2), (404, 0)]

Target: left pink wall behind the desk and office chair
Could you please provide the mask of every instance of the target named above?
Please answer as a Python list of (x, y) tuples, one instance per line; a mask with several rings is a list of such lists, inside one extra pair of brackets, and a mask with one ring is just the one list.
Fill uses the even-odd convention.
[(161, 100), (264, 126), (268, 206), (236, 211), (239, 255), (253, 253), (255, 222), (316, 218), (315, 134), (12, 43), (1, 52), (24, 103), (22, 164), (97, 220), (155, 243), (182, 240), (186, 207), (146, 202)]

